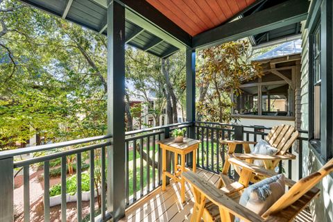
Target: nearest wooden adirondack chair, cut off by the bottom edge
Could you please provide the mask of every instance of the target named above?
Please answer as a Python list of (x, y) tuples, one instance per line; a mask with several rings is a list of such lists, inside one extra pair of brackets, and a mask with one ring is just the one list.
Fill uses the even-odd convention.
[(289, 190), (264, 214), (259, 215), (240, 205), (239, 198), (244, 189), (248, 187), (252, 173), (265, 177), (274, 176), (276, 173), (234, 157), (230, 158), (228, 162), (242, 167), (243, 171), (238, 182), (232, 182), (221, 189), (217, 189), (191, 171), (182, 173), (182, 176), (191, 185), (194, 194), (195, 203), (191, 221), (203, 219), (203, 221), (229, 222), (234, 221), (234, 216), (244, 221), (292, 221), (318, 195), (320, 190), (315, 185), (333, 171), (332, 159), (319, 171), (298, 182), (285, 178), (284, 181)]

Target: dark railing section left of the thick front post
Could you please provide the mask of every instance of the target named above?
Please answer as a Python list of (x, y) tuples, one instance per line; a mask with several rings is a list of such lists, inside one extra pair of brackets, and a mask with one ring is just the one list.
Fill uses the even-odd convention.
[[(90, 137), (85, 139), (76, 139), (69, 142), (60, 142), (58, 144), (46, 144), (42, 146), (33, 146), (29, 148), (22, 148), (12, 151), (3, 151), (0, 153), (1, 165), (1, 195), (2, 200), (6, 200), (6, 210), (2, 211), (1, 219), (7, 218), (7, 221), (12, 221), (14, 215), (14, 200), (13, 200), (13, 172), (23, 171), (23, 197), (15, 196), (15, 198), (23, 198), (23, 219), (24, 221), (31, 221), (31, 167), (42, 167), (44, 171), (44, 221), (51, 221), (50, 214), (50, 163), (54, 160), (60, 160), (60, 198), (61, 198), (61, 219), (67, 221), (67, 170), (69, 167), (74, 167), (76, 171), (76, 213), (78, 221), (83, 220), (82, 215), (82, 173), (83, 173), (83, 155), (87, 156), (89, 162), (89, 207), (90, 207), (90, 221), (95, 219), (95, 192), (101, 192), (101, 219), (110, 219), (110, 214), (106, 210), (106, 169), (105, 169), (105, 148), (110, 146), (109, 139), (111, 135)], [(17, 157), (22, 155), (33, 155), (33, 157), (24, 157), (22, 160), (16, 161)], [(100, 161), (96, 162), (99, 156)], [(70, 160), (74, 160), (71, 162)], [(97, 184), (99, 187), (95, 189), (95, 174), (100, 175), (101, 181)], [(99, 190), (99, 191), (98, 191)], [(11, 215), (10, 215), (11, 214)], [(6, 219), (4, 219), (6, 221)]]

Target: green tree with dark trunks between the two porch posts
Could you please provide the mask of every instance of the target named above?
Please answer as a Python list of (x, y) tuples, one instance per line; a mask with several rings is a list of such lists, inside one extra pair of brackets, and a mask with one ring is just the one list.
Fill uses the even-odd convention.
[[(143, 51), (126, 48), (126, 78), (133, 85), (133, 94), (148, 104), (154, 96), (154, 107), (149, 110), (157, 126), (167, 107), (168, 122), (178, 121), (177, 107), (185, 94), (185, 53), (179, 51), (167, 59), (160, 59)], [(129, 88), (128, 88), (129, 90)]]

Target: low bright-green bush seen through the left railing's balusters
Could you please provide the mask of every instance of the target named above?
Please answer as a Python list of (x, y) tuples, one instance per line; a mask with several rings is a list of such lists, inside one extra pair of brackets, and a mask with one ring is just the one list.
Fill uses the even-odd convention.
[[(89, 172), (85, 171), (81, 174), (82, 180), (82, 191), (89, 191), (90, 190), (90, 176)], [(76, 194), (76, 175), (67, 178), (66, 180), (66, 193), (70, 195)], [(57, 196), (61, 194), (61, 184), (54, 185), (50, 189), (50, 196)]]

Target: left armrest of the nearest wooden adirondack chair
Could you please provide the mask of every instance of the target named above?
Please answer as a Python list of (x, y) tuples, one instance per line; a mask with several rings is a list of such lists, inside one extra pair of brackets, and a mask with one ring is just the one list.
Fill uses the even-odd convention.
[(225, 195), (225, 192), (217, 189), (212, 185), (212, 183), (207, 180), (200, 178), (196, 173), (192, 171), (187, 171), (182, 173), (182, 176), (189, 182), (191, 186), (200, 191), (206, 198), (208, 198), (212, 203), (223, 207), (225, 210), (234, 214), (234, 216), (243, 219), (244, 221), (264, 221), (264, 219), (255, 214), (255, 212), (248, 210), (243, 205), (235, 202), (231, 198)]

